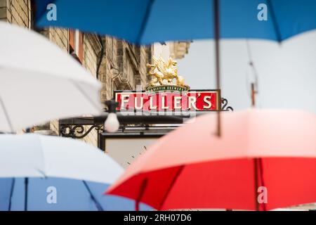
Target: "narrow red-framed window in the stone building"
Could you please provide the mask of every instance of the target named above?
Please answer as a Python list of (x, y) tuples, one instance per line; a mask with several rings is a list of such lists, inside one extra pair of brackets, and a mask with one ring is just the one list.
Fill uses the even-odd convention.
[(69, 30), (69, 46), (70, 54), (74, 56), (80, 63), (83, 63), (84, 56), (84, 35), (79, 30)]

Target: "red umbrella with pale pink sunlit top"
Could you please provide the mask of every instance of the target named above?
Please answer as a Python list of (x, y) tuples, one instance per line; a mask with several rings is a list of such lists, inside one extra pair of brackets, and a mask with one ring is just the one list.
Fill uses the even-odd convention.
[(157, 210), (272, 210), (316, 202), (316, 115), (244, 110), (197, 117), (154, 143), (107, 193)]

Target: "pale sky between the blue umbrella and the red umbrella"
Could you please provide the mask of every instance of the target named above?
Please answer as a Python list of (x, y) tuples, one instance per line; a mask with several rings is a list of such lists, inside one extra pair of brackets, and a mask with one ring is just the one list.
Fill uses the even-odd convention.
[[(254, 69), (249, 61), (254, 63)], [(235, 110), (251, 106), (250, 85), (258, 77), (256, 108), (298, 108), (316, 113), (316, 32), (282, 44), (264, 40), (220, 41), (222, 97)], [(256, 72), (254, 72), (256, 70)], [(178, 75), (191, 89), (215, 89), (214, 42), (193, 41), (178, 60)]]

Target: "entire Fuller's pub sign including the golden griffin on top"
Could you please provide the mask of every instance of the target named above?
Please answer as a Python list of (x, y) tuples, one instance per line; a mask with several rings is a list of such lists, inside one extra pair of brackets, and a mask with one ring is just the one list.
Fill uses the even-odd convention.
[[(172, 58), (152, 57), (147, 63), (152, 78), (145, 91), (114, 91), (119, 111), (217, 111), (221, 110), (220, 90), (190, 90), (178, 75)], [(175, 80), (175, 82), (173, 82)]]

